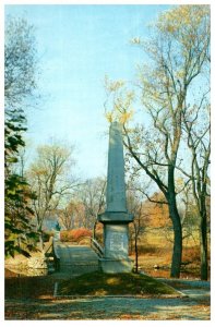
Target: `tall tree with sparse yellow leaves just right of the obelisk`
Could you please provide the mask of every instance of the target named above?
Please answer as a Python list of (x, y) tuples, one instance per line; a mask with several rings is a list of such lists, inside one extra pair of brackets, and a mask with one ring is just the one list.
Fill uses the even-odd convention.
[[(131, 157), (165, 196), (174, 227), (171, 277), (180, 276), (181, 218), (177, 207), (176, 166), (182, 140), (182, 116), (194, 81), (204, 72), (210, 52), (210, 8), (179, 5), (159, 16), (147, 43), (134, 39), (148, 55), (139, 70), (139, 88), (150, 125), (128, 128), (131, 93), (120, 95), (120, 83), (109, 86), (114, 110), (120, 112), (124, 144)], [(196, 85), (195, 85), (196, 86)], [(119, 117), (119, 114), (118, 114)], [(112, 118), (111, 118), (112, 119)]]

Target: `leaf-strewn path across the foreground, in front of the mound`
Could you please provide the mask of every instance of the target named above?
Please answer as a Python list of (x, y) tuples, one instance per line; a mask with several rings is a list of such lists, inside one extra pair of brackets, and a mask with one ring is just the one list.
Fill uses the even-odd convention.
[(189, 296), (7, 299), (5, 319), (210, 319), (210, 282), (163, 281)]

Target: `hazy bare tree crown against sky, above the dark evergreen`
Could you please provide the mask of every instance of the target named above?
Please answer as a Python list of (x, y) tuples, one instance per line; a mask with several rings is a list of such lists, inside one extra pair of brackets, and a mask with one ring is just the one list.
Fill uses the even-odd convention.
[(5, 20), (4, 96), (7, 111), (23, 111), (23, 102), (36, 90), (37, 52), (34, 26), (24, 19)]

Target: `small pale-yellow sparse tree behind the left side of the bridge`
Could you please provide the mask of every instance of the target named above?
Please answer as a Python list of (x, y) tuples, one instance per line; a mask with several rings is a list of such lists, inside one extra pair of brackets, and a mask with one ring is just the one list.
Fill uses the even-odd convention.
[(33, 208), (37, 230), (43, 232), (44, 219), (58, 208), (63, 197), (71, 193), (75, 180), (71, 172), (72, 149), (58, 144), (40, 146), (37, 159), (28, 171), (32, 190), (35, 193)]

